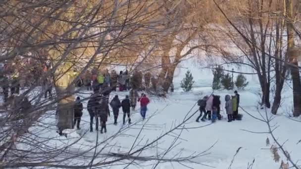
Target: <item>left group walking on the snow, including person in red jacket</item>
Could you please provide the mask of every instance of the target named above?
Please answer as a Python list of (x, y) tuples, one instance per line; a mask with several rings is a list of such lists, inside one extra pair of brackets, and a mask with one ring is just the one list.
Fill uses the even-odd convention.
[[(114, 116), (114, 125), (117, 125), (119, 110), (122, 108), (123, 112), (123, 125), (126, 123), (126, 117), (128, 124), (131, 124), (131, 109), (134, 111), (136, 108), (137, 101), (140, 102), (141, 110), (140, 114), (142, 119), (146, 118), (147, 105), (150, 103), (150, 99), (146, 94), (142, 93), (139, 97), (138, 92), (135, 89), (130, 90), (130, 95), (126, 95), (123, 100), (120, 101), (118, 95), (115, 95), (113, 99), (109, 102), (108, 95), (105, 95), (105, 90), (110, 91), (110, 87), (102, 88), (100, 92), (94, 92), (87, 104), (87, 110), (90, 115), (90, 132), (93, 132), (93, 123), (95, 119), (95, 130), (99, 130), (100, 123), (100, 133), (107, 132), (106, 122), (108, 117), (110, 117), (109, 106), (112, 109)], [(77, 97), (74, 104), (74, 127), (76, 125), (77, 129), (80, 129), (80, 121), (83, 115), (83, 104), (80, 102), (80, 97)]]

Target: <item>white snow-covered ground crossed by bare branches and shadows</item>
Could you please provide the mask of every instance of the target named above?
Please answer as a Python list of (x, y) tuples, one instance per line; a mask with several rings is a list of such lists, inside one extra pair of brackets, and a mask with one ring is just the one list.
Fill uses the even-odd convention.
[[(200, 70), (198, 66), (191, 65), (190, 69), (192, 70), (193, 76), (195, 78), (195, 87), (191, 92), (183, 92), (182, 89), (178, 88), (180, 81), (183, 79), (186, 69), (177, 70), (178, 76), (174, 79), (174, 84), (176, 90), (174, 93), (168, 94), (166, 99), (150, 97), (151, 103), (148, 106), (147, 120), (141, 121), (141, 116), (139, 113), (139, 106), (137, 111), (132, 112), (132, 122), (133, 124), (128, 126), (122, 125), (122, 115), (119, 113), (118, 125), (114, 126), (113, 117), (111, 116), (108, 119), (107, 133), (100, 134), (98, 131), (89, 132), (89, 121), (90, 117), (85, 109), (83, 112), (81, 130), (70, 130), (68, 134), (68, 139), (65, 139), (63, 136), (58, 136), (55, 132), (55, 128), (52, 126), (55, 124), (54, 112), (49, 112), (48, 115), (43, 117), (43, 122), (50, 123), (49, 127), (44, 128), (43, 136), (46, 138), (53, 138), (48, 144), (53, 144), (57, 147), (63, 146), (65, 144), (71, 143), (80, 137), (83, 137), (76, 144), (72, 145), (70, 151), (80, 151), (84, 152), (89, 149), (90, 146), (93, 146), (97, 143), (100, 143), (107, 138), (112, 137), (108, 141), (104, 142), (101, 145), (106, 145), (107, 147), (103, 152), (115, 152), (115, 153), (125, 153), (128, 152), (132, 147), (133, 143), (138, 136), (138, 140), (134, 149), (138, 149), (141, 145), (151, 142), (155, 138), (159, 137), (161, 134), (167, 132), (171, 127), (180, 124), (187, 113), (192, 109), (189, 115), (192, 115), (198, 110), (196, 102), (198, 99), (204, 95), (212, 93), (210, 84), (212, 83), (212, 73), (211, 70)], [(256, 83), (255, 76), (249, 76), (247, 79), (250, 81), (250, 85), (244, 90), (239, 91), (241, 95), (241, 104), (240, 106), (248, 111), (251, 115), (260, 118), (258, 113), (258, 100), (259, 96), (256, 94), (259, 91), (258, 84)], [(284, 104), (279, 110), (279, 115), (275, 117), (272, 121), (272, 124), (279, 126), (275, 130), (275, 135), (281, 143), (285, 142), (284, 147), (291, 154), (291, 157), (294, 161), (299, 160), (301, 157), (301, 144), (297, 144), (301, 139), (300, 127), (301, 123), (290, 120), (287, 115), (290, 114), (291, 110), (291, 90), (289, 86), (286, 86), (283, 98)], [(128, 92), (113, 92), (110, 95), (110, 99), (118, 94), (119, 98), (124, 98)], [(196, 122), (196, 118), (199, 115), (199, 112), (195, 114), (190, 120), (185, 123), (187, 129), (177, 129), (171, 134), (160, 139), (157, 144), (160, 148), (167, 149), (170, 144), (173, 142), (177, 134), (181, 133), (177, 146), (172, 149), (165, 157), (171, 158), (178, 153), (177, 157), (189, 156), (194, 153), (204, 152), (203, 156), (194, 159), (196, 163), (161, 163), (158, 165), (157, 169), (186, 169), (185, 166), (188, 166), (192, 169), (228, 169), (233, 156), (236, 151), (242, 147), (239, 153), (236, 155), (231, 169), (248, 169), (248, 163), (252, 163), (253, 159), (254, 166), (253, 169), (279, 169), (281, 160), (285, 163), (287, 160), (279, 152), (281, 159), (280, 162), (274, 162), (271, 150), (269, 149), (273, 143), (270, 135), (266, 133), (251, 133), (245, 130), (253, 132), (266, 132), (267, 125), (262, 123), (245, 112), (242, 109), (239, 109), (239, 113), (243, 114), (242, 121), (234, 121), (228, 123), (225, 119), (226, 115), (223, 110), (224, 107), (224, 96), (226, 94), (233, 94), (233, 91), (214, 91), (214, 94), (221, 96), (221, 114), (224, 119), (217, 121), (214, 124), (211, 122)], [(81, 98), (90, 96), (89, 91), (83, 91), (83, 94), (80, 94)], [(272, 97), (271, 97), (272, 98)], [(84, 101), (84, 107), (87, 106), (87, 101)], [(259, 112), (264, 115), (264, 110), (259, 110)], [(112, 112), (111, 112), (112, 115)], [(270, 114), (268, 114), (271, 116)], [(51, 118), (50, 118), (51, 117)], [(94, 126), (95, 127), (95, 126)], [(141, 129), (143, 128), (143, 129)], [(117, 134), (119, 130), (123, 131), (123, 134)], [(37, 127), (30, 128), (31, 131), (38, 130)], [(40, 135), (40, 136), (41, 136)], [(266, 138), (270, 139), (270, 146), (266, 146)], [(71, 139), (70, 139), (71, 138)], [(20, 145), (21, 146), (21, 145)], [(99, 147), (101, 149), (101, 146)], [(133, 150), (135, 151), (135, 150)], [(147, 149), (144, 151), (141, 156), (151, 156), (162, 152), (156, 147)], [(94, 153), (90, 151), (89, 153)], [(100, 156), (98, 156), (100, 157)], [(97, 161), (98, 159), (96, 159)], [(71, 163), (76, 164), (86, 164), (90, 162), (90, 159), (74, 159), (70, 160)], [(197, 164), (199, 163), (199, 164)], [(127, 167), (127, 169), (151, 169), (155, 164), (155, 161), (142, 161), (139, 162), (139, 165), (133, 165)], [(109, 166), (104, 169), (123, 169), (124, 166)]]

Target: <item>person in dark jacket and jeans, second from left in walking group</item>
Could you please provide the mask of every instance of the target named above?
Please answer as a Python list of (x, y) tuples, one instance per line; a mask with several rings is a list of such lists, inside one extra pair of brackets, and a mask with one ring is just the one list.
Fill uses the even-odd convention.
[(91, 95), (91, 98), (88, 101), (87, 104), (87, 110), (90, 115), (90, 132), (93, 132), (93, 119), (95, 118), (96, 124), (95, 124), (95, 130), (98, 130), (99, 121), (97, 117), (97, 111), (100, 107), (100, 103), (98, 102), (98, 97), (96, 94)]

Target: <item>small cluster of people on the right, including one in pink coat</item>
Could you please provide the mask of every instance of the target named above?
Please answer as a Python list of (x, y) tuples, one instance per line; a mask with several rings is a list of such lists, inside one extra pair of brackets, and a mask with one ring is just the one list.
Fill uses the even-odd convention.
[[(235, 120), (241, 120), (238, 114), (238, 107), (240, 102), (240, 95), (235, 90), (232, 98), (230, 95), (225, 96), (225, 110), (228, 117), (228, 122)], [(215, 122), (216, 119), (221, 120), (222, 116), (220, 114), (220, 96), (211, 94), (210, 96), (204, 96), (202, 99), (198, 100), (198, 106), (200, 106), (200, 115), (197, 118), (197, 122), (205, 121), (205, 119)], [(203, 116), (202, 116), (203, 114)]]

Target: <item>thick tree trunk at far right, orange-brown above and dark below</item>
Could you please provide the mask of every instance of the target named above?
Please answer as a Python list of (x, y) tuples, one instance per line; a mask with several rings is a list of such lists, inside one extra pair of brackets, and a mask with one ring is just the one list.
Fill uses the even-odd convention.
[(291, 76), (293, 80), (293, 98), (294, 98), (294, 117), (301, 114), (301, 82), (297, 61), (297, 53), (294, 52), (295, 38), (294, 38), (294, 25), (293, 25), (293, 0), (286, 0), (286, 13), (287, 13), (287, 35), (288, 35), (288, 57), (289, 61), (295, 66), (291, 68)]

